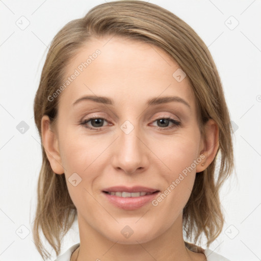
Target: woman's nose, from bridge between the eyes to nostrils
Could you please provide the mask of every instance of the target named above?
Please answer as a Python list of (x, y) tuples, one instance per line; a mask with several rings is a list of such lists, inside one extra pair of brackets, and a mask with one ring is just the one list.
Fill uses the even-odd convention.
[[(129, 125), (127, 126), (130, 127)], [(127, 174), (144, 171), (148, 164), (148, 151), (144, 136), (134, 127), (130, 133), (120, 128), (112, 151), (112, 165)]]

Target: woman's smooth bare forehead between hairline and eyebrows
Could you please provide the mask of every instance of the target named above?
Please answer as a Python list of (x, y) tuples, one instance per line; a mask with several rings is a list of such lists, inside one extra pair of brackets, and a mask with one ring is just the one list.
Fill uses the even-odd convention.
[(109, 96), (122, 106), (176, 95), (193, 108), (187, 78), (178, 82), (173, 77), (177, 70), (179, 65), (158, 46), (116, 36), (92, 39), (68, 63), (63, 81), (68, 85), (64, 84), (60, 103), (71, 107), (84, 95), (97, 95)]

